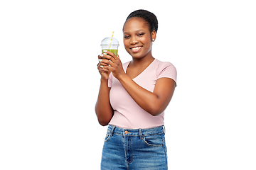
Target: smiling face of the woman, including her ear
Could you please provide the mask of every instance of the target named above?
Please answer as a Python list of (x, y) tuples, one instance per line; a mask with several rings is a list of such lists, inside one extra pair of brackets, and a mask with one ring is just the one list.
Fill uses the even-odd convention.
[(151, 55), (152, 39), (156, 39), (156, 32), (149, 31), (149, 26), (142, 18), (130, 18), (124, 24), (125, 50), (136, 59)]

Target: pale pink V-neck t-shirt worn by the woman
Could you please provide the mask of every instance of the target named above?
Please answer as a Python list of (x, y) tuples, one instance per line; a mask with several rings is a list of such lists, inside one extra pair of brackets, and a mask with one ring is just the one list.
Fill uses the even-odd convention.
[[(124, 72), (126, 72), (128, 65), (129, 62), (123, 64)], [(173, 64), (155, 59), (141, 74), (135, 77), (133, 81), (144, 89), (153, 92), (157, 79), (167, 77), (174, 79), (176, 82), (176, 75), (176, 68)], [(164, 112), (160, 115), (153, 116), (144, 111), (144, 109), (129, 96), (122, 84), (112, 73), (108, 80), (108, 86), (111, 87), (110, 103), (114, 109), (114, 115), (110, 120), (110, 125), (126, 129), (156, 128), (164, 125)]]

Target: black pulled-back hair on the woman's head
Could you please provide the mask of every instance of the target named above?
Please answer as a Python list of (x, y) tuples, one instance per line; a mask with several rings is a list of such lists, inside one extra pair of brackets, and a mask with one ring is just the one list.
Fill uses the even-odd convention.
[(146, 23), (149, 25), (150, 33), (153, 30), (155, 30), (157, 32), (158, 21), (157, 21), (156, 16), (154, 15), (154, 13), (151, 13), (151, 12), (146, 11), (144, 9), (139, 9), (137, 11), (133, 11), (132, 13), (129, 14), (129, 16), (127, 17), (124, 24), (129, 20), (129, 18), (133, 18), (133, 17), (144, 19), (144, 21), (146, 21)]

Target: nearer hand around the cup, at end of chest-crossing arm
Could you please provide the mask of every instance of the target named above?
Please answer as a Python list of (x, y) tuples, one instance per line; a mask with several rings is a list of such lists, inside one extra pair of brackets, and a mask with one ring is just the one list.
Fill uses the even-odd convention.
[(113, 76), (117, 79), (119, 77), (122, 77), (122, 75), (125, 74), (124, 69), (122, 67), (122, 62), (119, 59), (119, 55), (116, 56), (114, 53), (109, 51), (104, 51), (107, 53), (107, 55), (102, 55), (102, 57), (106, 59), (101, 59), (100, 63), (107, 64), (106, 66), (103, 66), (102, 68), (108, 69), (110, 72), (112, 72)]

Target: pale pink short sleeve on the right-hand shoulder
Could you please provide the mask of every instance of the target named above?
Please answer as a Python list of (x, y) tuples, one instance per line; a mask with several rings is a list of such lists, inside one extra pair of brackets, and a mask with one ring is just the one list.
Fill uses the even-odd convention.
[(159, 65), (159, 68), (157, 69), (157, 79), (160, 78), (171, 78), (175, 81), (177, 79), (177, 71), (173, 64), (170, 62), (163, 62)]

